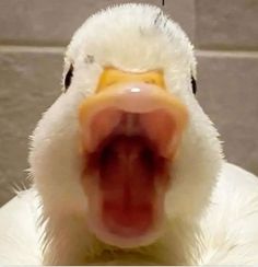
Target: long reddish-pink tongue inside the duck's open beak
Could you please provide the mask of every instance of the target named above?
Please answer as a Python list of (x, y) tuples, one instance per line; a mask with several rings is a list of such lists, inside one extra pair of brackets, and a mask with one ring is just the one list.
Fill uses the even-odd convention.
[(152, 227), (154, 161), (154, 153), (141, 137), (114, 137), (103, 149), (102, 216), (110, 232), (133, 236)]

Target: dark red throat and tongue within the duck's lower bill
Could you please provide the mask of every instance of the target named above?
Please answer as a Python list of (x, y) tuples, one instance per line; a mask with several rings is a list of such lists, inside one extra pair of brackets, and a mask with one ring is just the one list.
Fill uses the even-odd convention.
[[(150, 140), (143, 136), (112, 136), (90, 158), (86, 170), (94, 171), (85, 177), (93, 219), (90, 224), (95, 230), (98, 225), (102, 240), (134, 246), (129, 241), (153, 233), (162, 221), (168, 175), (167, 161)], [(128, 242), (131, 245), (125, 245)]]

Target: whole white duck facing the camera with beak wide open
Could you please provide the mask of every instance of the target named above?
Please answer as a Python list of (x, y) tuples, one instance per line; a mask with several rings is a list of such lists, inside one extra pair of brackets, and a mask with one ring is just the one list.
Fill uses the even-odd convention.
[(258, 179), (223, 160), (196, 59), (156, 8), (91, 16), (0, 209), (0, 264), (258, 264)]

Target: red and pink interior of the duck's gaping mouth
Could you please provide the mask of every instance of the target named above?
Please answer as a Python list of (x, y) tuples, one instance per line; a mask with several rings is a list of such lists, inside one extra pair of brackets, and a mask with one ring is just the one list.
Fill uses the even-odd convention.
[(173, 129), (173, 119), (160, 109), (136, 114), (109, 108), (92, 119), (95, 150), (87, 154), (85, 170), (97, 183), (99, 218), (110, 233), (133, 237), (154, 227), (169, 181), (163, 152)]

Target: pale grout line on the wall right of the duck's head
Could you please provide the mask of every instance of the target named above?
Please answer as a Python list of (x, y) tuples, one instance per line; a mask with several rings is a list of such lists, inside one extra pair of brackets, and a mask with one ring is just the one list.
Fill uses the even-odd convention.
[(258, 51), (244, 51), (244, 50), (195, 50), (198, 57), (227, 57), (227, 58), (258, 58)]

